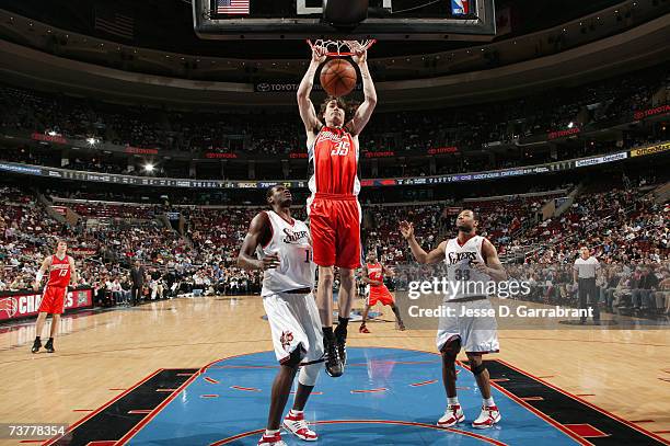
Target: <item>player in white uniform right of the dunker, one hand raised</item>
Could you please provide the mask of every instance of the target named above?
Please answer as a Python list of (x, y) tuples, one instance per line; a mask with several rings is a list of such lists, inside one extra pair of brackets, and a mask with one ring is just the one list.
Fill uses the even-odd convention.
[(442, 382), (448, 399), (447, 411), (437, 423), (442, 427), (453, 426), (465, 420), (455, 387), (455, 358), (461, 346), (465, 350), (470, 369), (484, 400), (482, 412), (472, 426), (487, 428), (500, 421), (500, 411), (490, 394), (488, 370), (482, 362), (483, 354), (499, 351), (496, 319), (493, 316), (460, 316), (463, 308), (481, 311), (493, 308), (484, 294), (486, 283), (507, 279), (507, 273), (494, 245), (484, 237), (475, 235), (477, 226), (478, 218), (473, 210), (461, 211), (457, 218), (458, 236), (442, 241), (427, 253), (414, 237), (414, 226), (407, 221), (400, 224), (401, 233), (409, 243), (412, 254), (418, 263), (446, 262), (449, 282), (462, 284), (462, 289), (448, 296), (443, 302), (446, 307), (453, 308), (455, 316), (441, 317), (437, 332), (437, 347), (442, 355)]

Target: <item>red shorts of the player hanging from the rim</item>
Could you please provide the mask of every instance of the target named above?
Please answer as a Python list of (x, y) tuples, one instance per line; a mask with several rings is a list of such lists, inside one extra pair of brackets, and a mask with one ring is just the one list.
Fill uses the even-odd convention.
[(314, 263), (360, 266), (360, 205), (354, 195), (316, 193), (308, 201)]

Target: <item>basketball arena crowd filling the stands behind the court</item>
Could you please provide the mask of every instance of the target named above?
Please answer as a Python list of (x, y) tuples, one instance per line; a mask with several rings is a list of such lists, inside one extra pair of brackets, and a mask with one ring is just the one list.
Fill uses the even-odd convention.
[[(668, 66), (648, 69), (568, 91), (547, 91), (524, 99), (437, 111), (380, 112), (361, 135), (366, 150), (383, 147), (397, 156), (451, 147), (458, 155), (363, 167), (363, 178), (424, 176), (475, 172), (541, 162), (607, 155), (642, 145), (668, 141), (667, 126), (622, 130), (612, 139), (580, 138), (553, 151), (519, 149), (510, 156), (481, 157), (492, 141), (556, 129), (615, 125), (636, 111), (670, 99)], [(190, 155), (230, 152), (284, 156), (304, 146), (300, 121), (291, 115), (187, 113), (123, 106), (0, 84), (0, 130), (56, 134), (67, 138), (108, 141)], [(231, 136), (233, 135), (233, 136)], [(473, 153), (470, 156), (469, 153)], [(105, 173), (168, 178), (247, 180), (244, 170), (189, 169), (184, 162), (162, 162), (142, 170), (141, 157), (81, 151), (67, 157), (50, 147), (3, 147), (0, 160)], [(67, 158), (67, 159), (66, 159)], [(67, 161), (67, 162), (66, 162)], [(257, 172), (255, 180), (301, 179), (302, 167)], [(276, 164), (280, 164), (277, 162)], [(218, 165), (218, 164), (217, 164)], [(367, 171), (366, 171), (367, 169)], [(480, 217), (480, 232), (497, 248), (511, 276), (529, 281), (531, 300), (578, 306), (571, 266), (580, 247), (588, 247), (603, 265), (599, 289), (603, 309), (625, 308), (645, 315), (670, 315), (670, 204), (659, 198), (668, 181), (666, 163), (637, 169), (613, 168), (601, 176), (578, 171), (544, 181), (532, 176), (523, 188), (484, 185), (458, 197), (393, 201), (383, 191), (365, 192), (365, 251), (398, 274), (388, 277), (392, 289), (407, 286), (418, 265), (400, 235), (398, 222), (415, 225), (425, 248), (452, 237), (455, 214), (470, 208)], [(486, 193), (486, 187), (489, 192)], [(74, 191), (76, 190), (76, 191)], [(257, 272), (235, 265), (249, 222), (263, 206), (243, 195), (182, 191), (166, 199), (138, 197), (122, 186), (77, 188), (57, 182), (0, 182), (0, 291), (32, 289), (36, 270), (65, 239), (79, 270), (79, 286), (93, 287), (97, 305), (139, 304), (180, 295), (246, 295), (261, 287)], [(305, 218), (304, 192), (298, 192), (293, 216)], [(140, 199), (141, 198), (141, 199)], [(543, 216), (547, 204), (562, 208)], [(60, 211), (56, 211), (59, 209)], [(65, 213), (65, 214), (63, 214)], [(65, 218), (63, 215), (69, 215)], [(177, 222), (169, 216), (176, 215)], [(73, 218), (72, 218), (73, 216)], [(130, 297), (131, 268), (142, 266), (143, 293)]]

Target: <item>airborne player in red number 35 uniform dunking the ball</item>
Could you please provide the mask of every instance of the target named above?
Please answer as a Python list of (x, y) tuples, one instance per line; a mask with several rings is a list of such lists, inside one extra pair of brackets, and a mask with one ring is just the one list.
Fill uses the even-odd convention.
[[(351, 43), (353, 56), (360, 69), (365, 101), (353, 118), (346, 121), (346, 104), (328, 96), (319, 115), (310, 100), (314, 73), (326, 59), (325, 48), (315, 46), (312, 60), (298, 88), (298, 108), (307, 131), (312, 192), (307, 208), (314, 243), (314, 263), (319, 265), (316, 305), (323, 324), (326, 373), (342, 376), (346, 364), (346, 340), (349, 313), (356, 294), (354, 272), (361, 264), (360, 219), (358, 203), (358, 135), (368, 124), (377, 105), (377, 92), (370, 77), (367, 50)], [(325, 123), (325, 125), (324, 125)], [(334, 266), (339, 267), (339, 318), (333, 332)]]

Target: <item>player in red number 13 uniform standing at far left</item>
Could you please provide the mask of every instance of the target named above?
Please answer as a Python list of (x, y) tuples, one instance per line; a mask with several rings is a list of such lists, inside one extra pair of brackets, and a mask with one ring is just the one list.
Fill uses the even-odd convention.
[(49, 255), (42, 262), (39, 271), (35, 277), (35, 285), (33, 289), (37, 291), (44, 273), (49, 272), (49, 279), (44, 293), (42, 294), (42, 302), (39, 304), (39, 310), (36, 323), (35, 342), (33, 342), (33, 348), (31, 352), (37, 353), (42, 347), (42, 331), (44, 330), (44, 323), (46, 322), (47, 315), (51, 315), (51, 329), (49, 340), (44, 345), (47, 353), (54, 353), (54, 336), (58, 331), (58, 324), (60, 322), (60, 315), (65, 307), (65, 298), (68, 294), (68, 286), (70, 279), (77, 282), (74, 271), (74, 260), (66, 254), (68, 250), (68, 243), (65, 240), (59, 240), (56, 248), (56, 254)]

